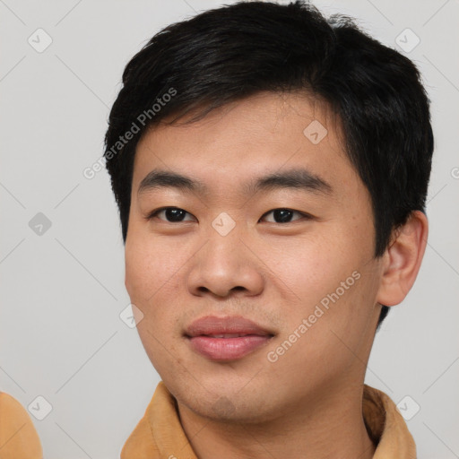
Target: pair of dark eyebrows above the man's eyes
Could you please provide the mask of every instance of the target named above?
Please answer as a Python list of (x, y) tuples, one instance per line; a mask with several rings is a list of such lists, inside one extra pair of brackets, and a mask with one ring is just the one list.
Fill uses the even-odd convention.
[[(142, 180), (137, 190), (141, 195), (153, 189), (177, 188), (180, 191), (190, 191), (207, 195), (209, 190), (200, 180), (186, 177), (169, 170), (153, 169)], [(274, 172), (264, 177), (256, 178), (245, 184), (243, 191), (253, 194), (259, 191), (274, 191), (283, 188), (294, 188), (301, 191), (320, 195), (333, 194), (333, 187), (324, 179), (308, 169), (289, 169)]]

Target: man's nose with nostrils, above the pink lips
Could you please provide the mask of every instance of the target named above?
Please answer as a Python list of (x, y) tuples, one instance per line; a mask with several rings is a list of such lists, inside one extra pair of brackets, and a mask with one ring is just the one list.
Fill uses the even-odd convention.
[(214, 231), (193, 257), (188, 290), (196, 296), (227, 297), (242, 291), (255, 296), (264, 289), (263, 263), (235, 229), (221, 236)]

